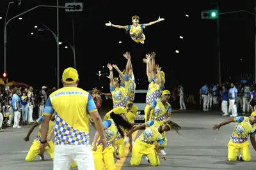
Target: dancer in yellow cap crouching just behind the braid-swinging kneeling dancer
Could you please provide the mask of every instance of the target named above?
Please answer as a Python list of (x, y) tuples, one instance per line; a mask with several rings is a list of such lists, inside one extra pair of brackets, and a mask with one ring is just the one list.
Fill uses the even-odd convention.
[[(168, 103), (171, 96), (169, 90), (163, 90), (161, 97), (155, 99), (148, 108), (147, 117), (150, 117), (149, 120), (154, 120), (155, 124), (163, 125), (172, 114), (172, 106)], [(151, 114), (150, 114), (151, 113)], [(150, 116), (151, 115), (151, 116)], [(161, 145), (160, 152), (162, 155), (166, 155), (164, 152), (164, 147), (167, 144), (166, 133), (163, 133), (164, 143)], [(147, 158), (146, 158), (147, 159)]]

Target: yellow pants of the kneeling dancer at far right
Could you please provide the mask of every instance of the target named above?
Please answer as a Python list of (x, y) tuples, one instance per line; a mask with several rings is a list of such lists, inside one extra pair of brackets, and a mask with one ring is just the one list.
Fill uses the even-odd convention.
[(251, 153), (249, 149), (249, 143), (243, 144), (234, 144), (231, 141), (228, 143), (228, 160), (236, 161), (238, 152), (240, 151), (242, 159), (246, 162), (251, 160)]

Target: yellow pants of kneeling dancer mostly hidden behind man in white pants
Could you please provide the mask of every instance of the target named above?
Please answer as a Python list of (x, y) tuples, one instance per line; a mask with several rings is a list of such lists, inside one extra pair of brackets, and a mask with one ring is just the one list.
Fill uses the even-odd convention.
[[(45, 148), (45, 152), (49, 153), (51, 159), (53, 160), (54, 158), (54, 144), (52, 141), (49, 141), (49, 145), (51, 148), (49, 148), (48, 146)], [(26, 156), (26, 161), (27, 162), (32, 162), (33, 160), (35, 160), (35, 158), (38, 156), (39, 152), (39, 147), (40, 147), (40, 142), (39, 141), (33, 141), (28, 155)], [(77, 167), (76, 162), (72, 162), (71, 167)]]

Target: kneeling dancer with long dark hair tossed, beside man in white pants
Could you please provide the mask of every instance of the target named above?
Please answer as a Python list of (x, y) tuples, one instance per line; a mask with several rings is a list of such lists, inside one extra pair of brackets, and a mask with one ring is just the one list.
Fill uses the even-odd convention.
[[(93, 121), (91, 124), (94, 126)], [(124, 114), (111, 112), (109, 113), (108, 119), (104, 120), (103, 126), (106, 132), (108, 146), (102, 151), (102, 145), (99, 145), (99, 133), (96, 132), (92, 145), (95, 170), (104, 169), (104, 165), (106, 170), (115, 170), (116, 167), (114, 157), (116, 159), (120, 159), (120, 156), (118, 156), (115, 152), (115, 139), (118, 136), (118, 133), (121, 136), (124, 136), (123, 129), (132, 129), (132, 125), (124, 120)]]

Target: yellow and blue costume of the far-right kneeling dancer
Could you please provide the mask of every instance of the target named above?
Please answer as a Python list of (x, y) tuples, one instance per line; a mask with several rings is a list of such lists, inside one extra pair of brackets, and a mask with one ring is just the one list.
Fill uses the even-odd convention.
[[(253, 115), (254, 114), (254, 115)], [(252, 113), (252, 116), (255, 116), (256, 112)], [(251, 160), (251, 153), (249, 149), (248, 137), (255, 136), (256, 134), (256, 125), (251, 125), (249, 117), (236, 117), (234, 118), (237, 125), (230, 137), (228, 142), (228, 160), (235, 161), (237, 160), (238, 152), (240, 151), (242, 159), (244, 161)]]

